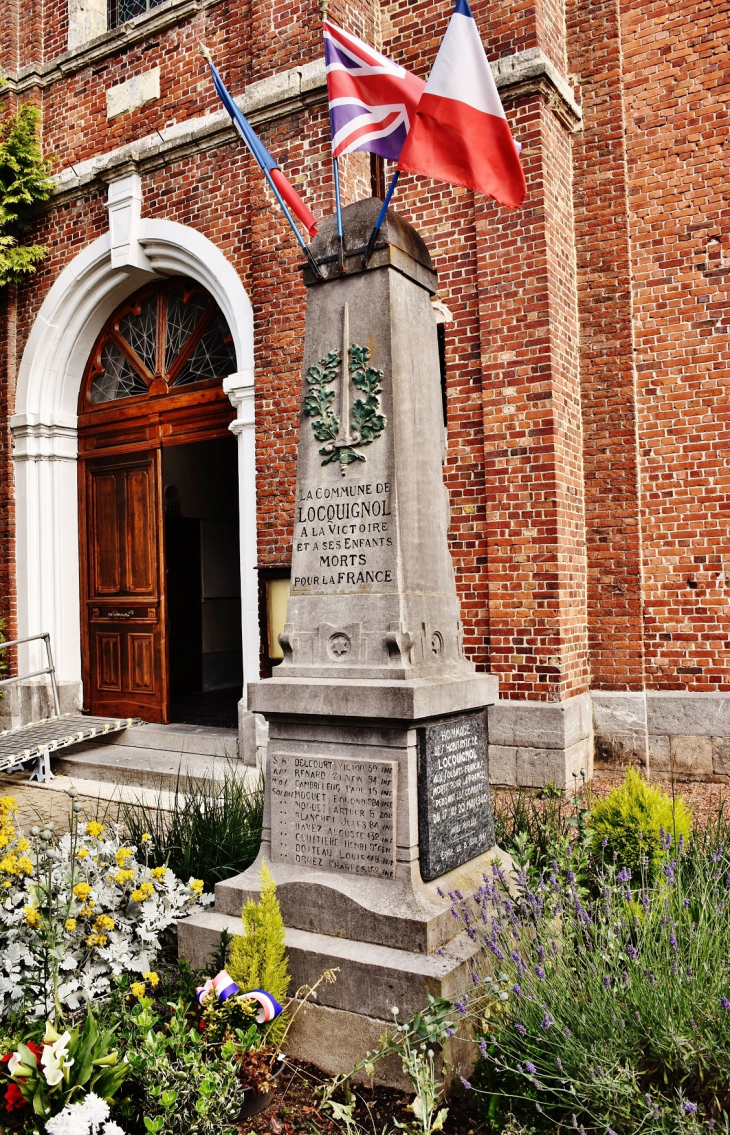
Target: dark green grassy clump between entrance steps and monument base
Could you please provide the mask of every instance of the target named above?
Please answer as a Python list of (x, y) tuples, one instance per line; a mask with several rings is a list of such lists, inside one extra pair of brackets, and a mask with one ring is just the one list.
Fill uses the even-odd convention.
[(188, 782), (184, 791), (178, 781), (171, 812), (153, 805), (126, 809), (132, 842), (141, 846), (145, 832), (152, 836), (150, 866), (166, 864), (179, 878), (195, 875), (207, 891), (251, 866), (261, 843), (263, 777), (251, 789), (237, 768), (230, 762), (223, 780)]

